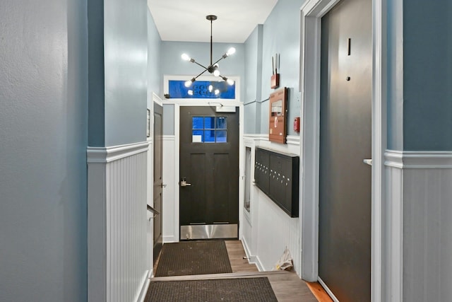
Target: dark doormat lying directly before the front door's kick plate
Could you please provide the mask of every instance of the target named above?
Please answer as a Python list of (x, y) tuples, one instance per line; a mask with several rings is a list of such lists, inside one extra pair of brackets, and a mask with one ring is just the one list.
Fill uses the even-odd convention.
[(225, 241), (165, 243), (155, 277), (231, 273)]

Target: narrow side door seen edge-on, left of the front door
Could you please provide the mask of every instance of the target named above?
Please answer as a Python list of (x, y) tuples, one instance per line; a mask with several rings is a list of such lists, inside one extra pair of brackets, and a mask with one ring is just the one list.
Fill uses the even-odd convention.
[(162, 250), (162, 106), (154, 103), (154, 263)]

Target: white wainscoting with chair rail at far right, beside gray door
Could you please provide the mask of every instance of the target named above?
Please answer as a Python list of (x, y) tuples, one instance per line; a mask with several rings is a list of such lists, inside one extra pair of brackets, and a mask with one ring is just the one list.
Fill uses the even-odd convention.
[[(452, 296), (452, 152), (386, 152), (389, 241), (385, 301), (449, 301)], [(391, 189), (390, 189), (391, 188)], [(390, 189), (390, 190), (389, 190)], [(393, 235), (396, 233), (396, 236)], [(402, 234), (398, 238), (398, 234)], [(391, 257), (392, 256), (392, 257)], [(385, 279), (385, 275), (383, 275)]]

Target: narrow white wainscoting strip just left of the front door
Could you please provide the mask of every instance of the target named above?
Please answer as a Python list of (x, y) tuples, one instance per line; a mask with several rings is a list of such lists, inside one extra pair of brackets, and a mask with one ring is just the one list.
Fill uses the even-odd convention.
[(163, 136), (163, 242), (179, 241), (179, 167), (176, 166), (174, 135)]

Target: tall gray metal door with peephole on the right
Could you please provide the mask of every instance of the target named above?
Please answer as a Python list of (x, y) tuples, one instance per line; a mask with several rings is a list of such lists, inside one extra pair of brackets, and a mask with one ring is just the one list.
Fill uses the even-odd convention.
[(340, 301), (370, 301), (371, 0), (322, 18), (319, 277)]

